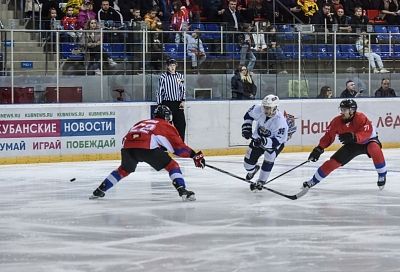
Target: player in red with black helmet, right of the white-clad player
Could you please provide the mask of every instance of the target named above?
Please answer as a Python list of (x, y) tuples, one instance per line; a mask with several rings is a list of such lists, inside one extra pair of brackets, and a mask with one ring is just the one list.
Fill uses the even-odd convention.
[(366, 154), (372, 158), (378, 172), (377, 185), (383, 189), (386, 183), (386, 163), (382, 153), (382, 145), (378, 139), (375, 127), (368, 117), (357, 112), (357, 103), (353, 99), (340, 102), (340, 115), (333, 118), (319, 145), (313, 149), (308, 160), (316, 162), (324, 149), (330, 146), (336, 135), (343, 146), (332, 157), (324, 162), (314, 176), (303, 183), (304, 188), (311, 188), (326, 178), (333, 170), (350, 162), (358, 155)]

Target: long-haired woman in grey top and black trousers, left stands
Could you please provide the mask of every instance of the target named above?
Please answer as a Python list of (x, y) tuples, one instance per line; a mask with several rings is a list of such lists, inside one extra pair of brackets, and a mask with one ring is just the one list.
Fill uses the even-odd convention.
[[(87, 21), (85, 30), (90, 30), (84, 33), (82, 36), (82, 45), (85, 48), (85, 52), (88, 57), (88, 70), (95, 71), (96, 75), (100, 75), (100, 52), (101, 52), (101, 33), (100, 25), (96, 19)], [(115, 66), (116, 63), (110, 58), (106, 51), (103, 50), (103, 59), (108, 60), (110, 66)]]

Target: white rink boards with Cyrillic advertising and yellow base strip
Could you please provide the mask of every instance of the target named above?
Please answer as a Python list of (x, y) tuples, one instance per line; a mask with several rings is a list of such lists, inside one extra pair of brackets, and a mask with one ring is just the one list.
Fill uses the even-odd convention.
[[(187, 143), (206, 155), (243, 154), (243, 115), (261, 101), (186, 102)], [(285, 152), (309, 151), (340, 99), (282, 100), (280, 109), (296, 117), (297, 132)], [(400, 100), (362, 98), (359, 110), (377, 126), (384, 147), (400, 147)], [(122, 138), (137, 121), (150, 118), (154, 103), (2, 105), (0, 163), (36, 163), (119, 159)], [(336, 148), (339, 142), (331, 147)]]

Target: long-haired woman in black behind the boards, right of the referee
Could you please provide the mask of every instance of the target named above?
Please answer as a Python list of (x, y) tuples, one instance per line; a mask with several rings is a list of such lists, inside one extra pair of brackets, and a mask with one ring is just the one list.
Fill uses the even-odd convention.
[(249, 70), (244, 65), (240, 65), (239, 69), (231, 79), (232, 99), (255, 99), (257, 86), (254, 84), (253, 78)]

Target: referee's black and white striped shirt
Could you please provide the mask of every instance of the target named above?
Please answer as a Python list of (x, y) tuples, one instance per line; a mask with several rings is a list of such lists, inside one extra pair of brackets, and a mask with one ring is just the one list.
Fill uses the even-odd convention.
[(162, 73), (158, 80), (156, 96), (157, 104), (161, 104), (163, 101), (184, 101), (186, 90), (183, 75), (178, 72), (175, 74)]

